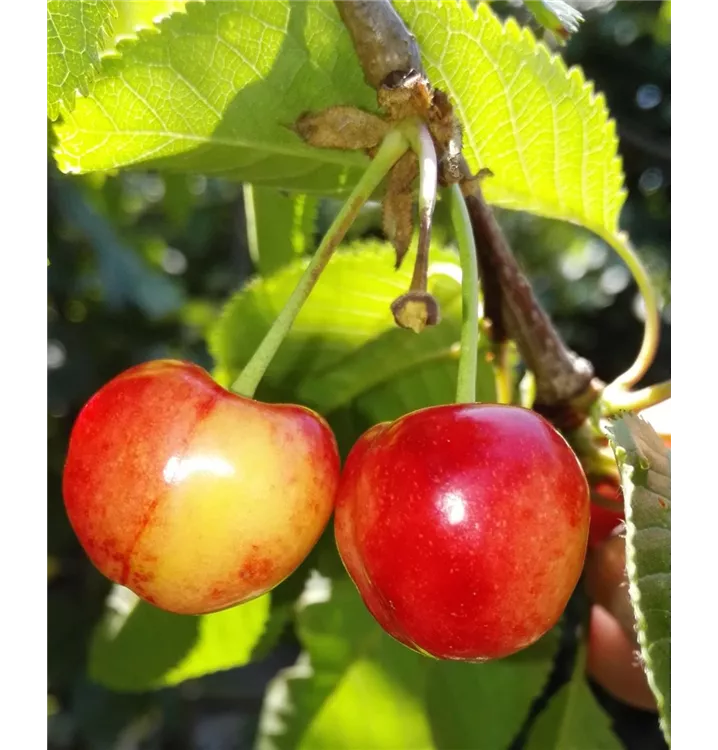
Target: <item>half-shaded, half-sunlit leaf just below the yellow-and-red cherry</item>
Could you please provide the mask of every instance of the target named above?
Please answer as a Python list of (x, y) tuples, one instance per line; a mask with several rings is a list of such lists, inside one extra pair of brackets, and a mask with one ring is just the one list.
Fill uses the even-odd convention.
[(269, 595), (211, 615), (174, 615), (115, 586), (90, 645), (89, 676), (119, 692), (177, 685), (250, 661)]

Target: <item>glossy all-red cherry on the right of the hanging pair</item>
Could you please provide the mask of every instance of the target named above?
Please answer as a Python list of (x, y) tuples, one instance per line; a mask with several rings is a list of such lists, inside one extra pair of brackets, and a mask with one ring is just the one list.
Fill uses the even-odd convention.
[(337, 547), (390, 635), (486, 661), (559, 620), (584, 563), (588, 483), (564, 438), (517, 406), (452, 404), (379, 424), (350, 452)]

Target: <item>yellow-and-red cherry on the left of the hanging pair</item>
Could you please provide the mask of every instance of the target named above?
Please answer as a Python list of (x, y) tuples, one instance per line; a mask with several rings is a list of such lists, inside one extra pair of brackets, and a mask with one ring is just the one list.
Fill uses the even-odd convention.
[(157, 607), (196, 615), (292, 573), (329, 521), (339, 472), (318, 414), (237, 396), (197, 365), (158, 360), (85, 404), (63, 495), (101, 573)]

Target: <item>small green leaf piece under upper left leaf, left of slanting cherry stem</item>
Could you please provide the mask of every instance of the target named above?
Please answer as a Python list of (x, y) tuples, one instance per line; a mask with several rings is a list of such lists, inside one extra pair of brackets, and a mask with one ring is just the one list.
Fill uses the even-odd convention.
[(262, 276), (312, 249), (319, 209), (315, 196), (245, 184), (244, 209), (249, 254)]

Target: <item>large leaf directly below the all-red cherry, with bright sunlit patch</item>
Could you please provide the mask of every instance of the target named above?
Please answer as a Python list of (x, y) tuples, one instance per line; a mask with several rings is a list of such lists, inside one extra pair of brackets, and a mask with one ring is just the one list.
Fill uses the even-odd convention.
[(504, 749), (558, 642), (554, 630), (501, 661), (435, 661), (388, 636), (345, 574), (310, 581), (297, 629), (306, 652), (270, 685), (257, 750)]

